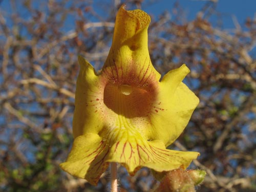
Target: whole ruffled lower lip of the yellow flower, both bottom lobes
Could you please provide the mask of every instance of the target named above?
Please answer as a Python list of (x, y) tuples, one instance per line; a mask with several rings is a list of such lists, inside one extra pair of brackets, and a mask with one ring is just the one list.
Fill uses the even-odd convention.
[(199, 156), (197, 152), (167, 150), (162, 141), (147, 141), (139, 133), (126, 129), (113, 130), (109, 137), (104, 139), (93, 133), (78, 136), (67, 161), (60, 167), (96, 185), (110, 162), (120, 163), (133, 176), (141, 167), (156, 172), (186, 168)]

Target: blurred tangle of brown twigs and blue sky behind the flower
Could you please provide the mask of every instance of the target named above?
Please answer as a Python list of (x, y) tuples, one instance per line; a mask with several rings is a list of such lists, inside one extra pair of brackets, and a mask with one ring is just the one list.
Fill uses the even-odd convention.
[[(58, 166), (73, 141), (77, 55), (100, 69), (120, 4), (142, 2), (12, 0), (0, 7), (1, 191), (109, 189), (109, 173), (93, 187)], [(225, 30), (209, 22), (217, 3), (206, 2), (189, 21), (179, 1), (171, 13), (152, 15), (149, 49), (162, 74), (182, 63), (191, 69), (185, 83), (200, 104), (170, 147), (201, 153), (192, 165), (207, 172), (198, 191), (256, 191), (256, 18)], [(156, 185), (146, 168), (130, 177), (119, 167), (119, 178), (121, 191)]]

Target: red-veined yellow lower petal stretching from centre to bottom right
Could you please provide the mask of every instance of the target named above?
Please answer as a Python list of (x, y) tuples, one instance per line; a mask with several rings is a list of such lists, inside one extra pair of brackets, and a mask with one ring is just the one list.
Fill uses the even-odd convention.
[(135, 130), (132, 133), (131, 130), (118, 130), (115, 140), (107, 161), (120, 163), (130, 175), (134, 175), (140, 167), (156, 172), (186, 168), (199, 155), (197, 152), (167, 150), (162, 141), (147, 141)]

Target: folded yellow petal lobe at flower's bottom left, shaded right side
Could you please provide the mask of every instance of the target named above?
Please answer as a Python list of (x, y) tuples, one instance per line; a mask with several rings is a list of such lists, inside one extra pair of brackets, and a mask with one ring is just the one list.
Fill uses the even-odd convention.
[(75, 138), (66, 162), (60, 167), (69, 174), (87, 179), (96, 185), (109, 163), (105, 161), (108, 147), (97, 134), (89, 133)]

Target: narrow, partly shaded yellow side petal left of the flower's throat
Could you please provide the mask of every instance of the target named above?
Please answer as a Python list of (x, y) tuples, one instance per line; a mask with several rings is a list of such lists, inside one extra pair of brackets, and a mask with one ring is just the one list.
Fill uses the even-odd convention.
[[(73, 135), (98, 133), (102, 127), (104, 80), (97, 76), (93, 66), (79, 56), (80, 72), (76, 83)], [(101, 80), (100, 80), (101, 79)]]

